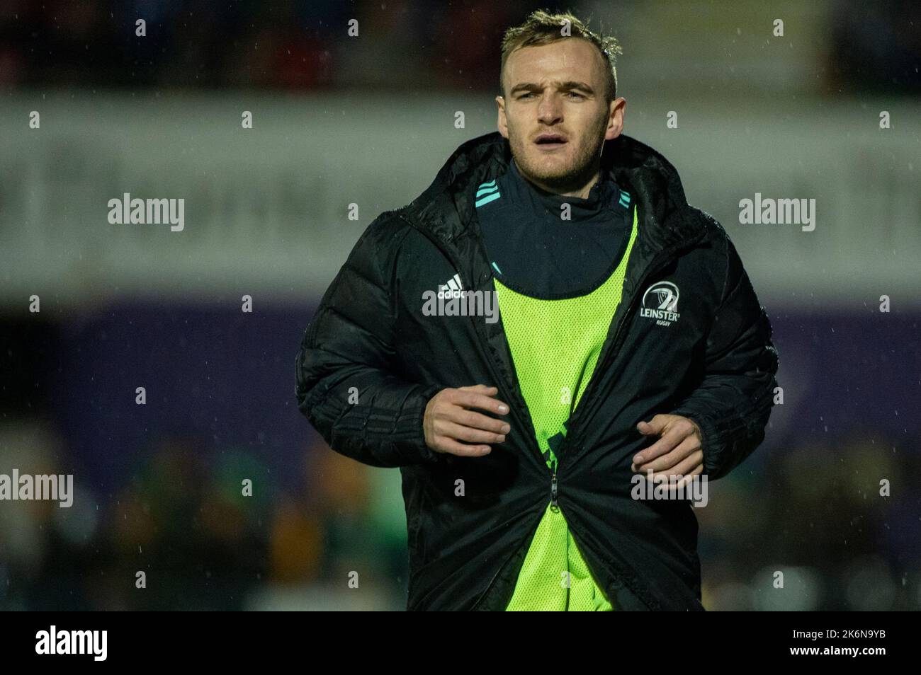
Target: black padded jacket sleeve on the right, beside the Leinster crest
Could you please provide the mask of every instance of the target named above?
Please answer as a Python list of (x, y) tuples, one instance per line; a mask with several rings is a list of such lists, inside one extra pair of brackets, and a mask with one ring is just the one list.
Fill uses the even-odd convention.
[(764, 440), (779, 365), (767, 313), (729, 235), (723, 235), (726, 276), (706, 339), (704, 378), (672, 411), (700, 428), (704, 473), (711, 480), (727, 475)]

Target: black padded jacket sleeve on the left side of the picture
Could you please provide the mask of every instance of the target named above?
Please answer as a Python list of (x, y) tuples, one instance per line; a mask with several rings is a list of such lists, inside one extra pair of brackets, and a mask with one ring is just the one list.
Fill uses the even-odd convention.
[(368, 225), (305, 331), (296, 359), (297, 407), (332, 450), (358, 462), (434, 463), (441, 456), (426, 445), (422, 421), (442, 387), (392, 372), (394, 289), (379, 258), (393, 239), (374, 235), (387, 215)]

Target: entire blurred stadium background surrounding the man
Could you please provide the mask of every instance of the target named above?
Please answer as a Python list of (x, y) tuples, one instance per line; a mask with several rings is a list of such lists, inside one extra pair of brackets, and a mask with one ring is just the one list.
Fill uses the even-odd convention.
[[(622, 41), (624, 132), (774, 326), (783, 405), (697, 510), (705, 606), (921, 608), (921, 6), (894, 0), (0, 0), (0, 473), (76, 483), (0, 502), (0, 608), (405, 607), (400, 473), (326, 446), (294, 358), (367, 223), (495, 130), (539, 6)], [(108, 223), (124, 192), (184, 198), (184, 230)], [(815, 230), (740, 224), (755, 192), (815, 199)]]

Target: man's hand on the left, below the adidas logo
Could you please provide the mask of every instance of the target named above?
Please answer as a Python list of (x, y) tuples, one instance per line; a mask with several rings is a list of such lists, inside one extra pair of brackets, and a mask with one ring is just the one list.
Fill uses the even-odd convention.
[(488, 418), (470, 408), (506, 415), (508, 406), (493, 398), (498, 393), (496, 387), (474, 384), (458, 389), (442, 389), (432, 396), (422, 420), (426, 445), (435, 452), (448, 452), (461, 457), (480, 457), (492, 452), (488, 445), (471, 443), (504, 442), (511, 428), (501, 419)]

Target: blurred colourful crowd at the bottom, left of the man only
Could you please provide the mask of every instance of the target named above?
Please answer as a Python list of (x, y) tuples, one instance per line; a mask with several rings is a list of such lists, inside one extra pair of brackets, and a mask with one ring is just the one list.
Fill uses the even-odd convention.
[(0, 610), (402, 609), (402, 504), (376, 506), (388, 489), (368, 467), (305, 447), (288, 490), (251, 452), (162, 436), (105, 493), (54, 428), (0, 425), (0, 473), (75, 476), (70, 508), (0, 504)]

